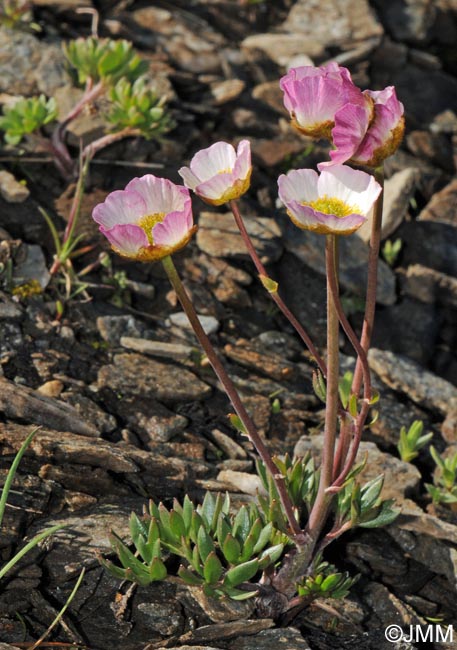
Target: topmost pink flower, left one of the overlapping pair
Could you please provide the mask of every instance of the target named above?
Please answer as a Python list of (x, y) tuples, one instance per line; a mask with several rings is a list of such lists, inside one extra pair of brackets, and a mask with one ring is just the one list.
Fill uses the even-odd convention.
[(314, 138), (331, 137), (335, 114), (346, 104), (372, 110), (372, 102), (354, 85), (349, 70), (334, 62), (292, 68), (279, 85), (293, 126)]

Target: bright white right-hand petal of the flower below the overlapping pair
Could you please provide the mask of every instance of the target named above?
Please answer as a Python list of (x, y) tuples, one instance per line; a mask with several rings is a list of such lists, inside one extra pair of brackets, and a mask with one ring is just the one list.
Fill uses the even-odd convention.
[(366, 215), (381, 193), (381, 186), (366, 172), (347, 165), (326, 167), (318, 181), (319, 196), (338, 198), (348, 206), (356, 206), (358, 214)]

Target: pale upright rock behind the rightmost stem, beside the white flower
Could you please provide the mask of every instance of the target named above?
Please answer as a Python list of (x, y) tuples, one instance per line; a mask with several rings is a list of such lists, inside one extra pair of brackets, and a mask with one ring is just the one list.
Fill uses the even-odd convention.
[[(408, 213), (409, 203), (417, 188), (417, 169), (404, 169), (388, 178), (384, 185), (382, 212), (382, 239), (387, 239), (402, 223)], [(372, 217), (358, 230), (358, 236), (366, 243), (370, 241)]]

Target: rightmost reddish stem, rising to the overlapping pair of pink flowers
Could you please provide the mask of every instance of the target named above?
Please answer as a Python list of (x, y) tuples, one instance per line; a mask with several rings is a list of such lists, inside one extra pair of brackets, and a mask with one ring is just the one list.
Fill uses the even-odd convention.
[[(381, 226), (382, 226), (382, 206), (384, 198), (384, 169), (383, 167), (377, 167), (374, 172), (374, 176), (378, 183), (383, 188), (383, 191), (379, 195), (373, 212), (373, 223), (371, 226), (371, 239), (370, 239), (370, 252), (368, 255), (368, 280), (367, 280), (367, 292), (365, 300), (365, 316), (363, 319), (363, 328), (362, 336), (360, 339), (360, 344), (365, 351), (365, 354), (368, 354), (368, 349), (370, 347), (371, 336), (373, 333), (373, 324), (374, 324), (374, 314), (376, 309), (376, 289), (378, 283), (378, 258), (379, 258), (379, 247), (381, 244)], [(362, 384), (363, 377), (363, 368), (362, 368), (362, 359), (357, 359), (355, 366), (354, 379), (352, 382), (352, 391), (357, 395), (360, 393), (360, 388)]]

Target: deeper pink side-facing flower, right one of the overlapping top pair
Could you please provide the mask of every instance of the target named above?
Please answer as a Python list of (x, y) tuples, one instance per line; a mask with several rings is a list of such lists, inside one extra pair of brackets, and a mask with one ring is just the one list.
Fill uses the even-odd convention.
[[(374, 117), (370, 120), (362, 107), (352, 104), (346, 104), (336, 113), (332, 130), (336, 149), (330, 152), (332, 163), (350, 160), (356, 165), (377, 167), (401, 142), (405, 130), (404, 108), (395, 88), (366, 90), (364, 95), (374, 105)], [(323, 163), (319, 168), (328, 164)]]

